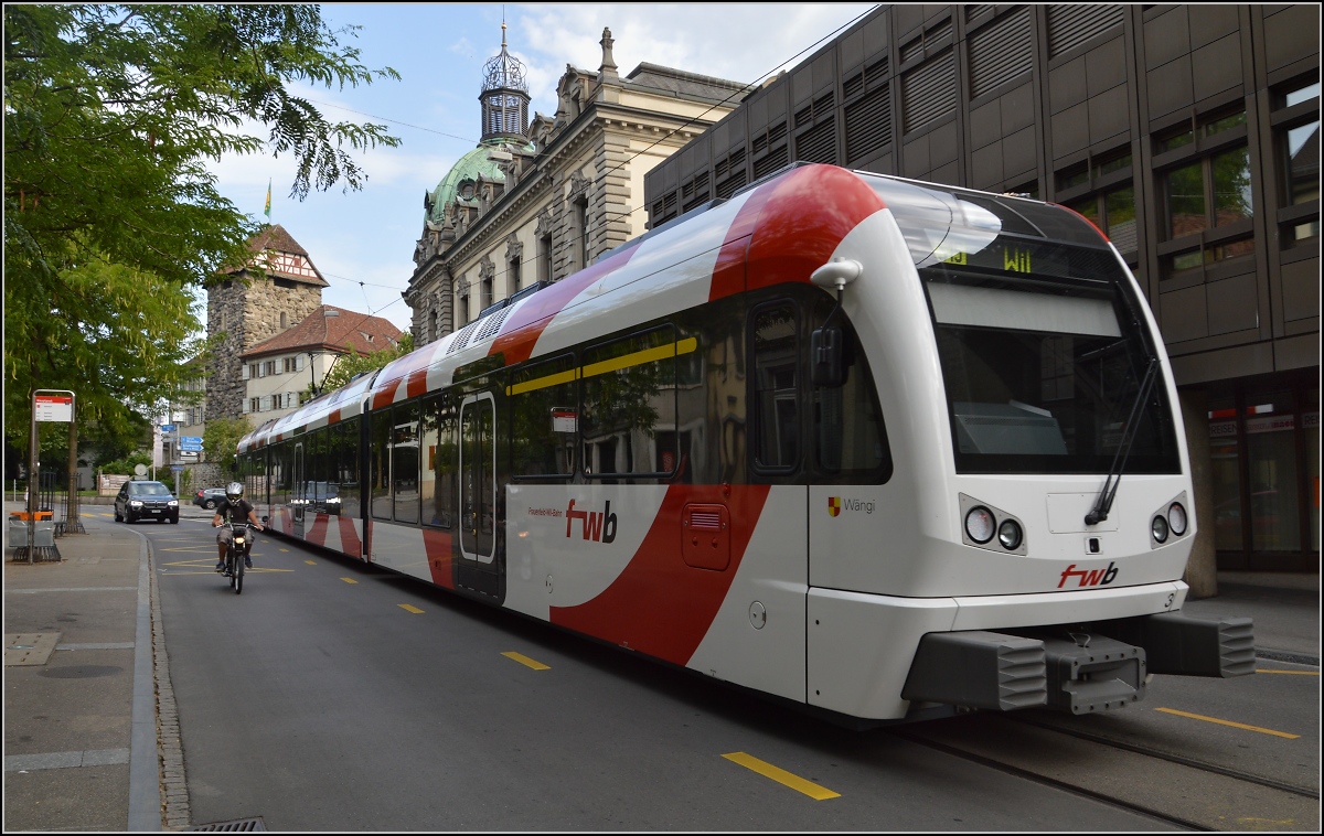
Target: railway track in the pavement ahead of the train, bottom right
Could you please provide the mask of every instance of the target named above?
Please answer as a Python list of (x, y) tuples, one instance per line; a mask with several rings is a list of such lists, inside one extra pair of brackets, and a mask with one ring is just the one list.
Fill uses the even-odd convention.
[(892, 730), (912, 743), (1190, 831), (1308, 831), (1319, 790), (1033, 716), (972, 714)]

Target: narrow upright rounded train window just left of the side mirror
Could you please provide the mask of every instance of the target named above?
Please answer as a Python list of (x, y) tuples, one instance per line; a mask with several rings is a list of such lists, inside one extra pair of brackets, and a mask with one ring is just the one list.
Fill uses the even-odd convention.
[(800, 464), (800, 319), (790, 302), (755, 308), (749, 328), (749, 418), (755, 467), (790, 472)]

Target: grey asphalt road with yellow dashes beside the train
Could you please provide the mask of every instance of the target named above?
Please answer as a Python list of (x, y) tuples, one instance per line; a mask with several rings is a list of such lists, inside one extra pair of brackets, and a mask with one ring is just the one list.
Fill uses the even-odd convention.
[[(139, 529), (156, 550), (195, 825), (1172, 829), (275, 537), (260, 538), (234, 595), (212, 571), (208, 517), (192, 508), (179, 525)], [(1258, 675), (1156, 677), (1144, 704), (1061, 720), (1317, 791), (1317, 675)]]

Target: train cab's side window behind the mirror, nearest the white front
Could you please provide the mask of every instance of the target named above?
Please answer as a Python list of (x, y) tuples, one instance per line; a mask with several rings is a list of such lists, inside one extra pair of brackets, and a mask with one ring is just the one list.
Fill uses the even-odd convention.
[[(829, 299), (816, 303), (816, 327), (828, 319), (833, 307), (834, 303)], [(841, 386), (813, 389), (814, 462), (828, 481), (887, 481), (892, 472), (892, 456), (874, 376), (863, 352), (858, 351), (851, 324), (841, 312), (833, 321), (842, 332), (842, 365), (846, 374)]]

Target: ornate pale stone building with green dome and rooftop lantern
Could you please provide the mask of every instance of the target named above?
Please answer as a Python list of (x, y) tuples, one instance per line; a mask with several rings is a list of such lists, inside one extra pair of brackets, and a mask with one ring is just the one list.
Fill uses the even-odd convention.
[(753, 89), (653, 63), (622, 77), (604, 29), (597, 71), (567, 65), (556, 114), (530, 120), (524, 66), (504, 29), (485, 67), (481, 143), (424, 196), (402, 294), (418, 345), (641, 234), (643, 175)]

